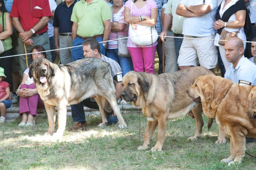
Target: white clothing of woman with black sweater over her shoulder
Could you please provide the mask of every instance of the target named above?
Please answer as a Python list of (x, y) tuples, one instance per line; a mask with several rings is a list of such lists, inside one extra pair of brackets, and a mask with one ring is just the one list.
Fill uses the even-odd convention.
[[(222, 15), (224, 14), (224, 12), (227, 11), (227, 9), (228, 9), (230, 6), (233, 6), (237, 1), (238, 1), (238, 0), (231, 0), (230, 3), (228, 3), (228, 4), (225, 6), (225, 8), (223, 8), (223, 7), (224, 7), (224, 3), (226, 2), (225, 0), (223, 0), (222, 3), (221, 3), (221, 9), (220, 9), (220, 11), (219, 11), (220, 16), (222, 17)], [(230, 19), (228, 20), (228, 22), (233, 22), (233, 21), (237, 21), (235, 14), (232, 14), (231, 17), (230, 17)], [(225, 27), (225, 28), (223, 28), (223, 29), (225, 29), (226, 31), (229, 31), (229, 32), (236, 32), (236, 31), (239, 31), (239, 28), (227, 28), (227, 27)], [(240, 38), (241, 40), (243, 40), (243, 41), (246, 41), (246, 36), (245, 36), (245, 34), (244, 34), (244, 27), (242, 27), (242, 28), (240, 29), (240, 31), (239, 31), (237, 37), (239, 37), (239, 38)], [(220, 40), (220, 35), (219, 35), (218, 33), (216, 33), (215, 40), (216, 40), (216, 41), (214, 41), (214, 45), (219, 46), (218, 40)], [(246, 44), (246, 43), (245, 43), (245, 44)], [(244, 49), (245, 49), (245, 47), (244, 47)]]

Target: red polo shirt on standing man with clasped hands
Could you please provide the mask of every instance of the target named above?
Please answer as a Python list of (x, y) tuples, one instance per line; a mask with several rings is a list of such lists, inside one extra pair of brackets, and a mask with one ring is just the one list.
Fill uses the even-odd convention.
[[(10, 17), (20, 18), (24, 31), (29, 31), (42, 17), (51, 17), (49, 0), (14, 0)], [(48, 31), (47, 24), (35, 34)]]

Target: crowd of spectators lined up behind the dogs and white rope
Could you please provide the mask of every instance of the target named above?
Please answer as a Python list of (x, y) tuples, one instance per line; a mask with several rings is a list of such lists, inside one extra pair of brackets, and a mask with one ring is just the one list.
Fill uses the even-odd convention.
[[(36, 108), (42, 104), (28, 77), (28, 66), (36, 58), (68, 64), (84, 57), (97, 57), (117, 64), (116, 72), (122, 71), (124, 76), (132, 70), (155, 74), (157, 51), (158, 74), (163, 73), (165, 58), (166, 73), (198, 65), (214, 72), (218, 63), (224, 77), (225, 71), (233, 65), (225, 57), (225, 46), (218, 44), (221, 32), (237, 32), (242, 41), (255, 42), (255, 22), (254, 0), (0, 0), (0, 40), (4, 46), (0, 54), (0, 68), (4, 70), (2, 79), (8, 84), (6, 88), (10, 93), (6, 94), (12, 103), (17, 103), (20, 96), (23, 119), (19, 126), (30, 126), (35, 124)], [(159, 36), (167, 37), (159, 37), (150, 45), (137, 45), (128, 38), (124, 45), (131, 56), (120, 56), (116, 39), (129, 36), (131, 23), (154, 26)], [(92, 39), (100, 42), (99, 48)], [(86, 44), (87, 40), (90, 43)], [(111, 41), (102, 43), (108, 40)], [(242, 49), (243, 56), (251, 57), (250, 61), (255, 64), (254, 42), (243, 42)], [(84, 46), (79, 46), (82, 44)], [(47, 52), (24, 55), (44, 50)], [(14, 54), (19, 56), (2, 58)], [(119, 100), (120, 96), (116, 96)], [(122, 99), (119, 101), (126, 103)], [(0, 99), (0, 106), (1, 102)], [(93, 105), (93, 97), (87, 99), (88, 102)], [(81, 102), (71, 106), (73, 121), (78, 122), (73, 129), (87, 125), (84, 105)], [(1, 113), (3, 119), (4, 114)]]

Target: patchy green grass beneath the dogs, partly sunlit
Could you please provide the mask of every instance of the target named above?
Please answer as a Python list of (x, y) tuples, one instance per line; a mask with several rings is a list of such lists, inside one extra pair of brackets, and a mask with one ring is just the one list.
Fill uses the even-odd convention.
[[(128, 125), (118, 129), (117, 125), (100, 128), (100, 116), (87, 116), (89, 131), (65, 130), (63, 142), (50, 142), (43, 136), (48, 129), (46, 115), (39, 115), (34, 127), (17, 127), (20, 119), (0, 125), (0, 170), (80, 170), (80, 169), (182, 169), (182, 170), (253, 170), (256, 159), (245, 156), (241, 164), (228, 167), (220, 160), (229, 156), (229, 142), (216, 145), (218, 126), (214, 122), (207, 130), (208, 118), (203, 115), (205, 126), (201, 138), (196, 142), (187, 140), (195, 133), (195, 120), (189, 116), (169, 121), (166, 142), (162, 152), (149, 150), (157, 140), (157, 130), (150, 148), (146, 151), (134, 149), (138, 142), (138, 112), (123, 114)], [(67, 118), (66, 129), (75, 123)], [(146, 118), (141, 116), (140, 145)], [(255, 144), (246, 144), (247, 152), (255, 155)]]

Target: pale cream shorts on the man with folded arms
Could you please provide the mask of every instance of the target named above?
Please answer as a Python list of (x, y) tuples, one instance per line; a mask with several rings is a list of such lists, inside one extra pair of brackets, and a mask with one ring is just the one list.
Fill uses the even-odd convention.
[[(187, 35), (184, 37), (193, 38)], [(218, 62), (218, 52), (214, 41), (202, 39), (214, 40), (214, 35), (183, 40), (178, 57), (179, 66), (201, 65), (207, 69), (215, 68)]]

